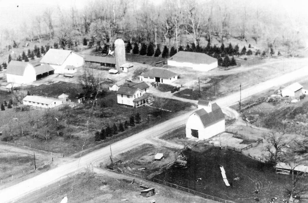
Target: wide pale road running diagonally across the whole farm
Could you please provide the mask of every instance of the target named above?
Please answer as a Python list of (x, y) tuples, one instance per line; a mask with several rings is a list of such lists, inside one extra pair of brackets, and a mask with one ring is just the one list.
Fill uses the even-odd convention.
[[(302, 78), (308, 75), (307, 66), (302, 67), (298, 70), (284, 74), (277, 78), (270, 79), (268, 81), (256, 84), (252, 87), (242, 90), (242, 98), (247, 98), (253, 94), (269, 89), (272, 86), (282, 85), (294, 81), (298, 78)], [(240, 93), (230, 94), (223, 98), (217, 99), (215, 102), (221, 107), (226, 107), (233, 105), (239, 100)], [(112, 154), (119, 154), (126, 150), (132, 149), (137, 145), (143, 144), (147, 138), (154, 137), (157, 134), (164, 133), (167, 130), (170, 130), (176, 126), (182, 125), (186, 122), (188, 115), (191, 112), (185, 113), (178, 117), (172, 118), (168, 121), (165, 121), (159, 125), (156, 125), (152, 128), (146, 129), (140, 133), (137, 133), (131, 137), (128, 137), (124, 140), (118, 141), (111, 145)], [(109, 159), (110, 148), (104, 147), (98, 149), (92, 153), (89, 153), (80, 159), (77, 159), (73, 162), (61, 165), (55, 169), (49, 170), (45, 173), (41, 173), (36, 177), (30, 178), (26, 181), (20, 182), (16, 185), (10, 186), (8, 188), (2, 189), (0, 191), (0, 202), (12, 202), (17, 201), (18, 198), (21, 198), (25, 194), (34, 192), (39, 188), (43, 188), (51, 183), (54, 183), (60, 179), (63, 179), (69, 175), (77, 173), (79, 169), (87, 167), (90, 163), (96, 164), (98, 162), (106, 162)], [(74, 189), (74, 186), (73, 186)]]

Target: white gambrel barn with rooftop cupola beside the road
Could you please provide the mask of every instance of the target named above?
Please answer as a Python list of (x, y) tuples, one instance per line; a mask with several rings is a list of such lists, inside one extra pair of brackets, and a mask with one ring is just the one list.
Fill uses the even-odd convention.
[(225, 132), (225, 114), (221, 108), (216, 103), (199, 100), (198, 110), (186, 122), (186, 137), (205, 140), (222, 132)]

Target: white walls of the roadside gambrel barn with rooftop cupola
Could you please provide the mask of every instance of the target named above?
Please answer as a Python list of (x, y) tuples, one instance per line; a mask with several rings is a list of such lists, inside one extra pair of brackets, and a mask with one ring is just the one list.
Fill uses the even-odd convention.
[(186, 123), (186, 137), (188, 138), (192, 137), (191, 129), (198, 130), (200, 140), (208, 139), (225, 131), (225, 119), (204, 128), (200, 118), (192, 114)]

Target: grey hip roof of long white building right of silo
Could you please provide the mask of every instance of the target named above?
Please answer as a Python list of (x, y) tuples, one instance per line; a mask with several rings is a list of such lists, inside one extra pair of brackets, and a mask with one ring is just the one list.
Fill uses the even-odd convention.
[(198, 52), (189, 52), (189, 51), (179, 51), (172, 57), (168, 58), (168, 60), (176, 62), (189, 62), (196, 64), (211, 64), (217, 62), (216, 58), (213, 58), (207, 54)]

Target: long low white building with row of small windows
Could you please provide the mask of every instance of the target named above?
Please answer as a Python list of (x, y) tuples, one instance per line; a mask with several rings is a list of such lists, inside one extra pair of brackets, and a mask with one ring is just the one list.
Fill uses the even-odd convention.
[(50, 109), (63, 104), (63, 101), (52, 97), (27, 95), (25, 98), (22, 99), (22, 103), (24, 105)]

